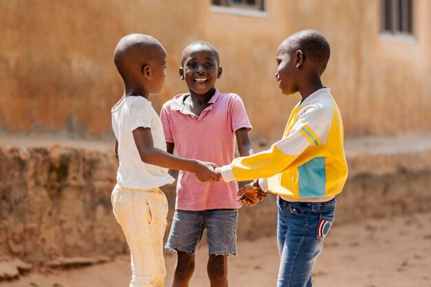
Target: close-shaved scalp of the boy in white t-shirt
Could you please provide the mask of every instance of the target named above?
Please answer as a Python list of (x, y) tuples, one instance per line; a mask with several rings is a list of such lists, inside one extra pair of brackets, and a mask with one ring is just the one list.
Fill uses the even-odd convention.
[(115, 47), (114, 63), (123, 80), (140, 71), (151, 60), (165, 56), (162, 44), (154, 37), (144, 34), (124, 36)]

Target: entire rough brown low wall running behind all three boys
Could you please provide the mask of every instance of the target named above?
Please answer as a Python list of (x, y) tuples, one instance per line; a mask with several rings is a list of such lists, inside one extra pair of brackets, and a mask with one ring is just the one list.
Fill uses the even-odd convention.
[[(349, 155), (348, 166), (338, 223), (430, 209), (431, 149), (364, 151)], [(111, 149), (0, 145), (0, 261), (19, 257), (43, 265), (127, 253), (110, 202), (116, 167)], [(163, 190), (170, 224), (175, 187)], [(275, 234), (276, 217), (273, 195), (243, 207), (238, 240)]]

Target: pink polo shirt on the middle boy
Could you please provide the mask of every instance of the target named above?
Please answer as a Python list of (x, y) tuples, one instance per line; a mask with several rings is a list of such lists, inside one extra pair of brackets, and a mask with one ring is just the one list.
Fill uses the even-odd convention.
[[(200, 116), (184, 106), (189, 94), (179, 94), (167, 101), (160, 112), (165, 139), (174, 142), (178, 156), (214, 162), (219, 167), (230, 164), (235, 153), (235, 131), (246, 127), (249, 117), (237, 94), (215, 94)], [(238, 209), (238, 183), (199, 182), (194, 173), (180, 171), (177, 182), (176, 209)]]

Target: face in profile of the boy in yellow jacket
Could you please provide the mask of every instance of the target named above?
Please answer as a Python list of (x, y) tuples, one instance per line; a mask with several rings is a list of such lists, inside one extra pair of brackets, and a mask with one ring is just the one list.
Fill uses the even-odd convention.
[(297, 55), (293, 52), (288, 52), (286, 43), (282, 43), (277, 50), (277, 72), (275, 78), (277, 79), (278, 87), (286, 96), (295, 94), (297, 89), (297, 72), (302, 63), (297, 61)]

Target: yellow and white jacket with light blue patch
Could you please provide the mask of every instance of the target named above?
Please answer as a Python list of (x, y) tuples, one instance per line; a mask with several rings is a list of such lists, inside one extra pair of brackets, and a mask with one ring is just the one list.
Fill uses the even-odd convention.
[(282, 140), (271, 149), (235, 158), (220, 168), (224, 181), (267, 178), (283, 198), (325, 198), (340, 193), (347, 179), (343, 123), (329, 88), (293, 109)]

